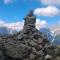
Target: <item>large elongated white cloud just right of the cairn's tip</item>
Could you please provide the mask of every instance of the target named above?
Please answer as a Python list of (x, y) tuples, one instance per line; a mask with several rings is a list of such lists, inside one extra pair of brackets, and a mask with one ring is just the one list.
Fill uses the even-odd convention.
[(37, 16), (58, 16), (60, 15), (60, 9), (54, 6), (48, 6), (45, 8), (37, 8), (34, 10), (34, 14)]

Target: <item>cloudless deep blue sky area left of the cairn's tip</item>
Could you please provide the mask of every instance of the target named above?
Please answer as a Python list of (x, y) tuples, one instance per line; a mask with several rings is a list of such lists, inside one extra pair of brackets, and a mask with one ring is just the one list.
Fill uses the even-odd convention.
[(35, 9), (40, 6), (40, 2), (36, 1), (17, 0), (12, 4), (4, 4), (4, 1), (0, 0), (0, 19), (8, 20), (8, 22), (14, 22), (16, 19), (22, 20), (30, 9)]

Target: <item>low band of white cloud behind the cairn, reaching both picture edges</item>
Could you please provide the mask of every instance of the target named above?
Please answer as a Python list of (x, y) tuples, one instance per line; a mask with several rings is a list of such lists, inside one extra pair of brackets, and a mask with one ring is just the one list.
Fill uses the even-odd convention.
[[(38, 30), (40, 30), (41, 28), (48, 27), (51, 31), (54, 32), (54, 34), (56, 35), (60, 34), (60, 24), (47, 26), (48, 23), (45, 20), (36, 19), (35, 25)], [(18, 21), (15, 23), (7, 23), (0, 19), (0, 27), (7, 27), (8, 29), (11, 29), (13, 31), (14, 30), (21, 31), (23, 29), (23, 26), (24, 26), (24, 21)]]

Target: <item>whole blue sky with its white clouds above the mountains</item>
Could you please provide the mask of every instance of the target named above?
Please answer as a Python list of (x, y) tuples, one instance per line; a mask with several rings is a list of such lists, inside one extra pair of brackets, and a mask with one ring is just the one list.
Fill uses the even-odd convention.
[(36, 28), (60, 25), (60, 0), (0, 0), (0, 25), (22, 29), (30, 10), (36, 15)]

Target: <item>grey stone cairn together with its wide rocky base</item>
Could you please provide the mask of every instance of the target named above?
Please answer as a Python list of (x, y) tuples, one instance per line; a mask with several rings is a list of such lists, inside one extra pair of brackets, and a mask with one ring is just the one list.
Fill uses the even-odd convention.
[(0, 60), (52, 60), (56, 57), (56, 46), (35, 28), (36, 16), (33, 11), (24, 20), (23, 30), (19, 34), (1, 40), (4, 51), (0, 50), (3, 53), (0, 53)]

